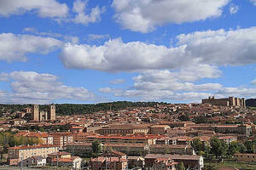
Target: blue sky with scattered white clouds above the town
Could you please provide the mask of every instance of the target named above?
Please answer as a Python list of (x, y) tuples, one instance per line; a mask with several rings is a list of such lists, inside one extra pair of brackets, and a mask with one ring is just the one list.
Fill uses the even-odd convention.
[(256, 0), (0, 0), (0, 103), (256, 98)]

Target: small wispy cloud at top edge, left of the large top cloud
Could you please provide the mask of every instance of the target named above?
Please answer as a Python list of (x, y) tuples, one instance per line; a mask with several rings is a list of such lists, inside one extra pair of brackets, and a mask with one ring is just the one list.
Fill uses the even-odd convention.
[(91, 8), (90, 14), (85, 13), (88, 0), (75, 0), (73, 3), (73, 12), (76, 13), (73, 19), (74, 23), (88, 25), (101, 20), (101, 14), (105, 12), (105, 8)]

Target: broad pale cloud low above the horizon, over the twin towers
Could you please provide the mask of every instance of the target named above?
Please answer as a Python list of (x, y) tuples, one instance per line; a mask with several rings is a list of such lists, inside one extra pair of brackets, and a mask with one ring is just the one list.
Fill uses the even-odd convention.
[(6, 103), (49, 104), (56, 99), (88, 101), (96, 99), (95, 94), (86, 88), (73, 88), (58, 81), (51, 74), (34, 71), (14, 71), (9, 74), (13, 93), (7, 94)]

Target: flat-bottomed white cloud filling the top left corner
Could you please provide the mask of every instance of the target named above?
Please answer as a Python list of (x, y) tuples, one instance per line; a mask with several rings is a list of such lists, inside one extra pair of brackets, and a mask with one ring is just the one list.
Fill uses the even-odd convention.
[(65, 3), (55, 0), (2, 0), (0, 1), (0, 15), (8, 17), (11, 14), (35, 12), (40, 17), (62, 18), (68, 14)]

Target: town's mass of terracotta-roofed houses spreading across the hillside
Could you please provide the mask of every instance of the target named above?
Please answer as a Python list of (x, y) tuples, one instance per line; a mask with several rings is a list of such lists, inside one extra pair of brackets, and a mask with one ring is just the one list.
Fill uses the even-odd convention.
[[(38, 111), (29, 108), (26, 111), (39, 113), (40, 117)], [(16, 136), (37, 138), (41, 142), (9, 147), (8, 163), (11, 166), (79, 169), (85, 164), (83, 158), (93, 151), (92, 144), (99, 141), (104, 151), (87, 162), (91, 169), (174, 170), (181, 162), (185, 167), (202, 169), (204, 160), (195, 155), (191, 146), (193, 139), (208, 143), (212, 137), (217, 137), (230, 144), (237, 140), (253, 140), (256, 134), (253, 124), (256, 112), (239, 105), (155, 105), (85, 115), (74, 113), (73, 116), (56, 116), (52, 121), (26, 120), (23, 118), (26, 111), (13, 113), (19, 117), (15, 119), (3, 114), (6, 121), (0, 122), (0, 130), (12, 130)], [(181, 120), (184, 115), (189, 120)], [(206, 117), (208, 122), (195, 123), (198, 116)], [(32, 132), (26, 129), (27, 126), (40, 127), (46, 132)], [(249, 155), (235, 155), (235, 158), (248, 160), (245, 156)], [(256, 161), (256, 155), (249, 157), (250, 161)]]

